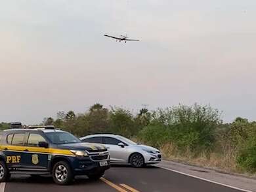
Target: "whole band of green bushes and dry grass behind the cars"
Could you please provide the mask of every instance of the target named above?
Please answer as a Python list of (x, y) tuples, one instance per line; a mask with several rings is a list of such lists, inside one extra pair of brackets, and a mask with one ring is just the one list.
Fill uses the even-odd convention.
[[(236, 118), (223, 123), (221, 113), (211, 106), (179, 105), (138, 114), (127, 109), (91, 106), (83, 114), (58, 112), (57, 118), (45, 118), (74, 135), (114, 133), (160, 148), (166, 159), (182, 161), (224, 172), (255, 174), (256, 122)], [(7, 123), (0, 123), (6, 129)]]

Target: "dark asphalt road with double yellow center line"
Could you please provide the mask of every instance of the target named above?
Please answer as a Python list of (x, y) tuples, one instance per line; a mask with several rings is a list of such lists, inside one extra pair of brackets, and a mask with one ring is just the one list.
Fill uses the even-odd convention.
[[(3, 184), (1, 184), (3, 188)], [(104, 178), (91, 181), (86, 176), (76, 178), (74, 184), (56, 185), (51, 177), (12, 176), (5, 184), (5, 192), (56, 192), (56, 191), (119, 191), (119, 192), (238, 192), (237, 189), (213, 184), (198, 178), (158, 167), (112, 167)]]

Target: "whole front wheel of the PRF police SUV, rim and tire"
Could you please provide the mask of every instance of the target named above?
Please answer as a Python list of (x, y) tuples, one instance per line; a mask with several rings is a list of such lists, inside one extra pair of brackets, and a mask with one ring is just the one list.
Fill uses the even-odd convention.
[(74, 179), (70, 165), (65, 161), (59, 161), (53, 167), (53, 180), (59, 185), (68, 185)]

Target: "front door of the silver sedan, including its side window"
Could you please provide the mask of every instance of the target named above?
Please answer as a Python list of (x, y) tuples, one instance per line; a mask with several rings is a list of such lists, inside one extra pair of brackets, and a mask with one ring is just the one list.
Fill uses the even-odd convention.
[(126, 149), (127, 144), (122, 148), (118, 146), (121, 141), (110, 136), (103, 136), (102, 143), (108, 148), (108, 152), (110, 152), (110, 161), (116, 163), (128, 162), (129, 152)]

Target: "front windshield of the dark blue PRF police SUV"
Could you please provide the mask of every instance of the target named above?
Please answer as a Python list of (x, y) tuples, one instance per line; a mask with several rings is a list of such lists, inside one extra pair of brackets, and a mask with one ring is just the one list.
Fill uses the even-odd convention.
[(68, 143), (77, 143), (81, 142), (74, 135), (67, 132), (49, 132), (45, 135), (51, 140), (53, 144), (68, 144)]

